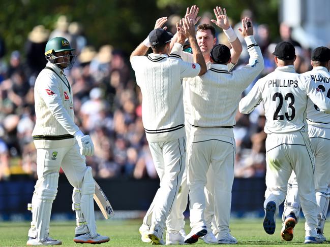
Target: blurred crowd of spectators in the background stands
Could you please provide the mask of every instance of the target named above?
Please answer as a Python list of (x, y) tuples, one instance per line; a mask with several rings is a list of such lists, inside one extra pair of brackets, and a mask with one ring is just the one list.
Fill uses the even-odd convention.
[[(297, 73), (311, 69), (311, 48), (302, 47), (291, 37), (291, 27), (280, 24), (277, 40), (271, 40), (266, 24), (257, 23), (252, 12), (242, 17), (253, 20), (255, 38), (261, 48), (265, 68), (259, 77), (275, 69), (272, 55), (276, 43), (289, 41), (295, 46)], [(178, 16), (169, 17), (169, 29), (175, 32)], [(210, 23), (213, 16), (205, 13), (200, 23)], [(237, 30), (241, 23), (232, 23)], [(174, 28), (174, 29), (172, 29)], [(218, 29), (219, 31), (219, 29)], [(236, 31), (239, 37), (239, 32)], [(19, 51), (6, 51), (6, 40), (0, 39), (0, 180), (13, 174), (28, 174), (36, 178), (36, 150), (31, 136), (34, 128), (34, 83), (45, 67), (45, 45), (53, 37), (66, 38), (76, 48), (76, 63), (65, 73), (74, 95), (75, 122), (89, 133), (95, 144), (95, 155), (86, 157), (96, 178), (129, 177), (157, 178), (145, 138), (141, 119), (141, 92), (136, 85), (128, 54), (110, 44), (96, 49), (88, 45), (88, 37), (78, 22), (60, 16), (54, 30), (38, 25), (29, 32), (24, 57)], [(230, 47), (222, 32), (218, 42)], [(243, 53), (235, 69), (248, 62), (242, 37)], [(9, 61), (4, 59), (10, 54)], [(257, 79), (256, 79), (257, 80)], [(255, 81), (249, 88), (247, 93)], [(235, 177), (251, 178), (265, 175), (265, 117), (263, 108), (250, 115), (237, 113)]]

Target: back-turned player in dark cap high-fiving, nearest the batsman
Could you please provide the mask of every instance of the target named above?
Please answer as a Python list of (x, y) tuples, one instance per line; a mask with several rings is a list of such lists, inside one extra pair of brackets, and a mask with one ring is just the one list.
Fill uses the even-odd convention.
[[(142, 92), (142, 121), (153, 161), (160, 178), (152, 205), (142, 226), (149, 228), (148, 238), (154, 244), (165, 244), (165, 221), (172, 208), (185, 169), (186, 135), (184, 124), (182, 79), (206, 72), (206, 64), (196, 41), (193, 23), (185, 18), (185, 36), (189, 37), (194, 62), (184, 62), (169, 54), (172, 34), (161, 28), (167, 17), (156, 21), (147, 40), (131, 54), (131, 64)], [(148, 45), (153, 53), (144, 56)], [(142, 227), (141, 226), (141, 227)], [(140, 228), (142, 232), (145, 229)]]

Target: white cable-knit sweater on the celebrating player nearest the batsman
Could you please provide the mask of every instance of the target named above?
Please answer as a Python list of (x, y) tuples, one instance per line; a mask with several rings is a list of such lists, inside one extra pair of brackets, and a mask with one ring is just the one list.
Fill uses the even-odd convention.
[(185, 136), (182, 79), (200, 72), (196, 63), (175, 56), (134, 56), (131, 64), (142, 92), (142, 122), (149, 142)]

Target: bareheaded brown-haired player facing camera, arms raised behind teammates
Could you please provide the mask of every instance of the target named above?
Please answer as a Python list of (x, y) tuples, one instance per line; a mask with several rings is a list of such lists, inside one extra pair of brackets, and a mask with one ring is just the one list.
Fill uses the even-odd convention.
[[(198, 10), (199, 9), (197, 8), (197, 6), (194, 5), (190, 9), (187, 8), (187, 12), (186, 12), (186, 16), (192, 18), (195, 24), (199, 20), (199, 17), (197, 17)], [(228, 40), (232, 46), (232, 49), (230, 50), (232, 59), (231, 62), (228, 63), (228, 68), (230, 70), (238, 61), (239, 55), (242, 52), (242, 44), (241, 42), (239, 42), (236, 34), (229, 25), (226, 10), (225, 9), (222, 10), (222, 8), (216, 7), (214, 9), (214, 13), (216, 15), (216, 20), (212, 20), (212, 21), (217, 26), (223, 29), (224, 33), (227, 35)], [(202, 51), (206, 66), (207, 68), (210, 68), (211, 61), (209, 54), (211, 53), (212, 48), (217, 43), (216, 30), (212, 25), (201, 24), (197, 27), (196, 38), (198, 45)], [(173, 46), (172, 55), (173, 54), (177, 54), (179, 57), (182, 57), (184, 61), (189, 61), (189, 62), (193, 61), (193, 56), (190, 53), (187, 52), (182, 53), (182, 46), (179, 44)], [(191, 112), (190, 110), (191, 99), (190, 99), (189, 87), (187, 85), (189, 84), (189, 81), (193, 81), (193, 80), (194, 80), (193, 78), (188, 78), (184, 80), (183, 83), (187, 146), (189, 146), (190, 143), (190, 131), (191, 131), (191, 126), (188, 123), (188, 119), (190, 117), (190, 112)], [(188, 203), (188, 193), (189, 193), (189, 188), (187, 184), (187, 168), (188, 167), (186, 166), (186, 170), (183, 175), (183, 181), (181, 184), (181, 191), (177, 195), (177, 199), (174, 202), (173, 209), (166, 222), (166, 226), (167, 226), (166, 244), (183, 243), (184, 238), (186, 237), (186, 234), (184, 232), (185, 221), (184, 221), (183, 213), (186, 210), (186, 206)], [(211, 169), (209, 169), (209, 171), (207, 172), (207, 185), (205, 187), (206, 208), (204, 213), (205, 213), (205, 224), (207, 227), (207, 234), (201, 237), (201, 239), (205, 243), (218, 243), (218, 239), (216, 238), (216, 236), (214, 235), (211, 229), (211, 222), (215, 217), (214, 199), (213, 199), (213, 194), (210, 192), (210, 190), (213, 191), (213, 187), (214, 187), (213, 181), (214, 181), (214, 172), (211, 167)], [(219, 230), (216, 228), (215, 232), (218, 233)]]

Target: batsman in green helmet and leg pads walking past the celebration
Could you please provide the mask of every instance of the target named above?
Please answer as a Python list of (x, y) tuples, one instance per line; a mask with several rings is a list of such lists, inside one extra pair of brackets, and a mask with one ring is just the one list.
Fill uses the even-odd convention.
[(75, 55), (69, 42), (55, 37), (46, 44), (48, 63), (35, 84), (36, 126), (33, 130), (37, 149), (38, 181), (28, 209), (32, 211), (27, 245), (59, 245), (61, 241), (49, 236), (51, 206), (57, 193), (58, 172), (62, 167), (74, 187), (72, 208), (76, 211), (77, 227), (73, 241), (103, 243), (109, 237), (96, 231), (94, 217), (95, 191), (91, 167), (85, 155), (94, 154), (89, 135), (84, 135), (74, 123), (72, 90), (64, 69), (70, 69)]

